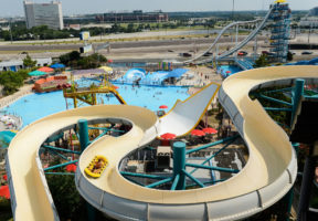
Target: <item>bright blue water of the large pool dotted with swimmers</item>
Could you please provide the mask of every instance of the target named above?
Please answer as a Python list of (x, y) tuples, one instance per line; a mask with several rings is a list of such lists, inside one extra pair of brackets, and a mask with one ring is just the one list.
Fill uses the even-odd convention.
[[(153, 112), (158, 110), (160, 105), (167, 105), (168, 109), (170, 109), (177, 99), (184, 101), (189, 96), (187, 87), (132, 87), (131, 85), (119, 84), (116, 86), (119, 86), (117, 91), (127, 104), (146, 107)], [(104, 104), (119, 104), (115, 96), (106, 96), (105, 94), (97, 95), (97, 101), (99, 104), (102, 101)], [(74, 108), (72, 99), (67, 99), (67, 103), (68, 108)], [(78, 106), (87, 105), (80, 103)], [(24, 127), (47, 115), (66, 110), (66, 102), (63, 97), (62, 91), (44, 94), (31, 94), (18, 99), (1, 110), (7, 112), (8, 114), (13, 113), (21, 116)]]

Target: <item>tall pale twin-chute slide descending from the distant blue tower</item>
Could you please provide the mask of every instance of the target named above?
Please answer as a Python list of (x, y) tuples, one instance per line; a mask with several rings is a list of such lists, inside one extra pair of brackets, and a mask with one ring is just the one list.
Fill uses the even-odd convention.
[(251, 40), (253, 40), (257, 33), (263, 29), (263, 27), (265, 25), (265, 23), (268, 21), (269, 19), (269, 15), (273, 11), (273, 8), (269, 9), (269, 11), (267, 12), (267, 14), (264, 17), (263, 21), (257, 19), (257, 20), (253, 20), (253, 21), (239, 21), (239, 22), (233, 22), (233, 23), (230, 23), (227, 24), (226, 27), (224, 27), (222, 29), (222, 31), (219, 33), (219, 35), (216, 36), (216, 39), (214, 40), (214, 42), (210, 45), (210, 48), (208, 50), (205, 50), (203, 53), (197, 55), (195, 57), (191, 59), (191, 60), (188, 60), (188, 61), (184, 61), (184, 63), (191, 63), (191, 62), (194, 62), (197, 60), (199, 60), (200, 57), (202, 57), (205, 53), (210, 52), (215, 45), (216, 43), (219, 42), (219, 40), (221, 39), (221, 36), (231, 28), (233, 27), (236, 27), (236, 25), (243, 25), (243, 24), (248, 24), (248, 23), (256, 23), (258, 21), (262, 21), (259, 23), (259, 25), (253, 30), (246, 39), (244, 39), (240, 44), (237, 44), (235, 48), (233, 48), (232, 50), (230, 51), (226, 51), (224, 52), (223, 54), (221, 55), (218, 55), (216, 56), (216, 60), (218, 59), (223, 59), (225, 56), (229, 56), (231, 54), (233, 54), (234, 52), (239, 51), (240, 49), (242, 49), (243, 46), (245, 46)]

